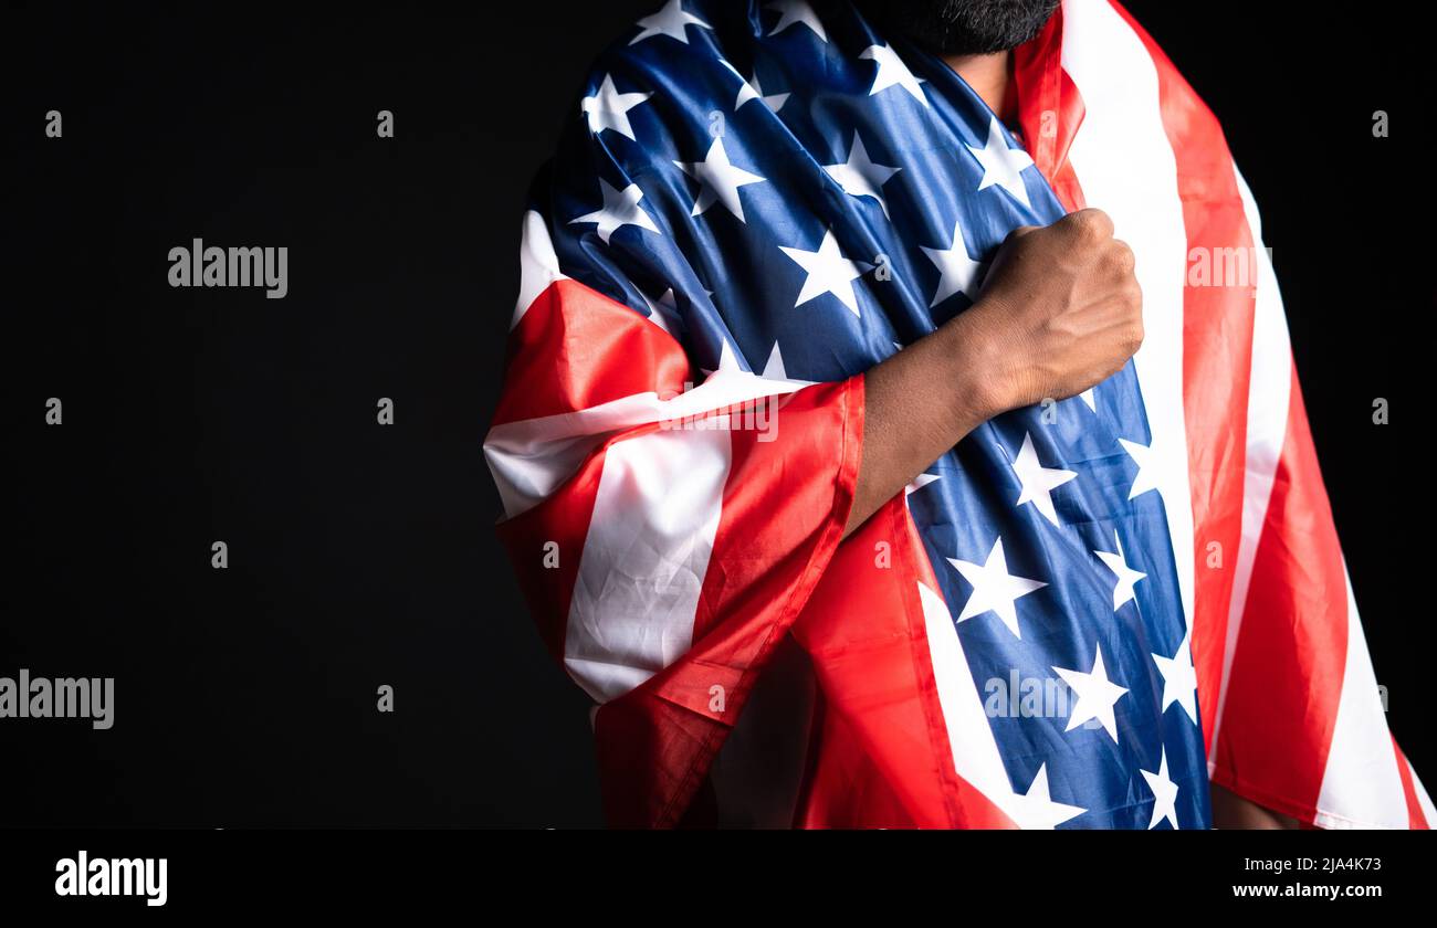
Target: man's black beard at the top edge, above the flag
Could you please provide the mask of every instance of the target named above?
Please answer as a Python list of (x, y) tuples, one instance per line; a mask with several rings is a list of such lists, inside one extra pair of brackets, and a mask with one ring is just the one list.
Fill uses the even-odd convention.
[(1042, 30), (1059, 0), (854, 0), (934, 55), (992, 55)]

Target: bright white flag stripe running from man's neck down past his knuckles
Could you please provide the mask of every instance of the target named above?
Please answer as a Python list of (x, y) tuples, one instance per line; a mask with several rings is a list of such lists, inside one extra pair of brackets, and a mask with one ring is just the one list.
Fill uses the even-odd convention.
[(1118, 238), (1137, 256), (1147, 335), (1134, 365), (1152, 431), (1150, 467), (1167, 510), (1183, 615), (1191, 626), (1193, 497), (1183, 417), (1187, 228), (1177, 159), (1158, 108), (1157, 69), (1142, 40), (1106, 0), (1063, 4), (1062, 66), (1085, 109), (1068, 152), (1083, 200), (1112, 217)]

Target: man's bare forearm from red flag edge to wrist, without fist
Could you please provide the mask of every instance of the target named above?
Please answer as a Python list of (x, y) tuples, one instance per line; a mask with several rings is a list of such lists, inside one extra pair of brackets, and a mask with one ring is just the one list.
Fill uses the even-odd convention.
[(864, 376), (864, 454), (844, 537), (1000, 411), (973, 319), (953, 319)]

